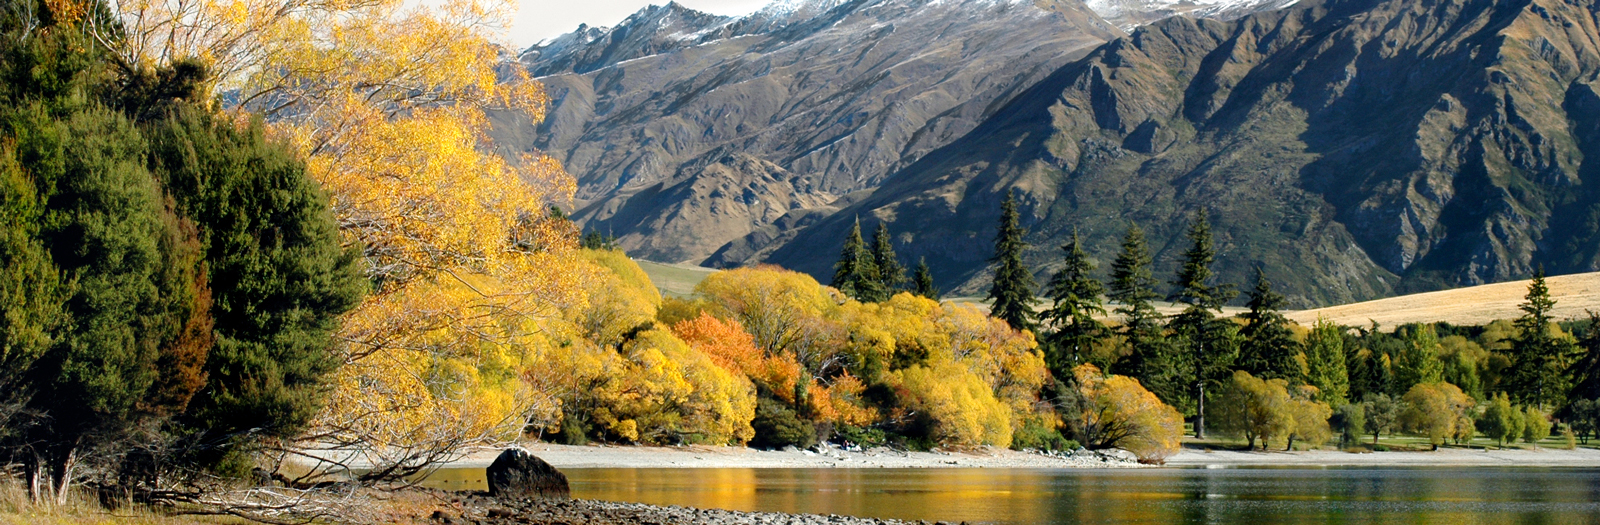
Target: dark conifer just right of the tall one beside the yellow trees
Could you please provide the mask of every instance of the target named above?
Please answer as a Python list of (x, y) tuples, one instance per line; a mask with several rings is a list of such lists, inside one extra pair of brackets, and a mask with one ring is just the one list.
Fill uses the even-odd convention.
[[(1072, 367), (1085, 360), (1094, 341), (1104, 336), (1106, 327), (1094, 315), (1106, 315), (1101, 299), (1106, 287), (1091, 275), (1094, 262), (1083, 251), (1077, 230), (1072, 230), (1072, 240), (1061, 251), (1066, 251), (1066, 266), (1045, 287), (1045, 296), (1053, 304), (1040, 314), (1040, 322), (1053, 328), (1045, 336), (1045, 362), (1056, 378), (1067, 378)], [(1104, 370), (1106, 363), (1099, 365)]]

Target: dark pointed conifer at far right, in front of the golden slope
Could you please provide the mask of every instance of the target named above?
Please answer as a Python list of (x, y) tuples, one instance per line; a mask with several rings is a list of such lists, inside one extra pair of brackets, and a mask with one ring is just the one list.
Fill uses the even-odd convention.
[(1555, 299), (1550, 299), (1542, 269), (1533, 275), (1526, 301), (1520, 309), (1523, 315), (1517, 319), (1517, 335), (1510, 339), (1512, 365), (1507, 373), (1510, 397), (1541, 410), (1558, 407), (1566, 395), (1571, 344), (1550, 333), (1550, 311), (1555, 309)]

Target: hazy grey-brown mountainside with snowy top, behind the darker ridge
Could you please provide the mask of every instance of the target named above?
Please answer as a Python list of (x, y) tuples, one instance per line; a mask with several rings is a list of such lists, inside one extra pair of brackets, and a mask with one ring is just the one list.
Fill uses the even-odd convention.
[(531, 48), (555, 102), (496, 139), (560, 158), (574, 218), (634, 256), (702, 262), (739, 242), (744, 261), (773, 246), (749, 234), (792, 235), (1120, 35), (1080, 0), (669, 3)]

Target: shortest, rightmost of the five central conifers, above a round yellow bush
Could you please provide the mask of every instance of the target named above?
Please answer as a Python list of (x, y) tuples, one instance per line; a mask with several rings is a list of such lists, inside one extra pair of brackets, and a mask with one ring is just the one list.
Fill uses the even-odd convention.
[(1266, 379), (1285, 379), (1299, 384), (1306, 379), (1299, 360), (1299, 343), (1283, 317), (1283, 296), (1272, 290), (1266, 271), (1256, 267), (1256, 285), (1248, 293), (1248, 312), (1240, 314), (1245, 327), (1238, 330), (1238, 370)]

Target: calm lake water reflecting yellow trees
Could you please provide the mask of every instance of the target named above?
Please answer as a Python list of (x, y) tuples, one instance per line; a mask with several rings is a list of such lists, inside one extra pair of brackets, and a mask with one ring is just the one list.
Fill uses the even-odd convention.
[[(1600, 523), (1600, 469), (566, 469), (574, 498), (970, 523)], [(483, 488), (482, 469), (429, 485)]]

